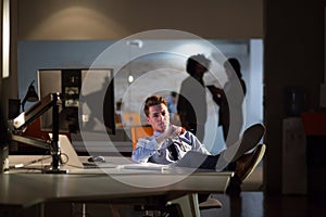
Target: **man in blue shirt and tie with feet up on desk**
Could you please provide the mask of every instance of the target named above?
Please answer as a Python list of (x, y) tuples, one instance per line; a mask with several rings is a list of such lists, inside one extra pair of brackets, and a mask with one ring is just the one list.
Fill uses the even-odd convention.
[[(237, 161), (236, 175), (240, 180), (244, 180), (263, 157), (265, 146), (256, 145), (261, 136), (252, 135), (243, 137), (237, 150), (230, 148), (218, 155), (211, 155), (195, 135), (170, 124), (167, 102), (160, 95), (149, 97), (145, 102), (143, 112), (154, 133), (151, 137), (138, 139), (131, 155), (136, 163), (150, 162), (218, 170), (217, 161), (223, 157), (230, 162)], [(255, 150), (252, 153), (243, 155), (253, 148)]]

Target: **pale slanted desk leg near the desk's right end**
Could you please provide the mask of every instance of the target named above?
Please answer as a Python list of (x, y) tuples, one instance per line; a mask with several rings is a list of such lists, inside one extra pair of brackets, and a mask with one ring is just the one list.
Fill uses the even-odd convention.
[(167, 205), (178, 204), (184, 217), (200, 217), (198, 194), (191, 193), (167, 202)]

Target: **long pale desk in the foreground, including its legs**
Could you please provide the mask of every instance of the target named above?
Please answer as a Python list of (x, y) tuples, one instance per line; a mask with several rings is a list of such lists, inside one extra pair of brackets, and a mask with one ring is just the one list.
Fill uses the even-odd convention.
[[(133, 169), (131, 169), (133, 170)], [(23, 210), (37, 206), (43, 216), (47, 204), (53, 203), (137, 203), (180, 204), (183, 216), (200, 216), (197, 193), (224, 193), (233, 173), (199, 171), (180, 181), (160, 188), (137, 188), (116, 180), (138, 179), (147, 182), (171, 180), (183, 173), (142, 171), (103, 173), (98, 169), (76, 174), (9, 173), (0, 175), (0, 205)]]

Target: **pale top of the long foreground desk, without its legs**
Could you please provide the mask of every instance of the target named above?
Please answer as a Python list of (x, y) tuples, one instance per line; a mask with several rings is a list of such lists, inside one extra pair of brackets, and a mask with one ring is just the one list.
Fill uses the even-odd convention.
[[(176, 175), (122, 175), (124, 179), (155, 181)], [(123, 197), (141, 197), (193, 192), (225, 192), (229, 174), (193, 174), (188, 178), (161, 188), (136, 188), (120, 182), (106, 175), (0, 175), (0, 204), (30, 206), (49, 201), (100, 201)]]

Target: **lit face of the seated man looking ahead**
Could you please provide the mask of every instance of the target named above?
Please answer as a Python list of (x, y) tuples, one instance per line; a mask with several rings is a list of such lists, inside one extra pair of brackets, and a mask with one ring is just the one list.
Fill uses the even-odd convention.
[(161, 103), (150, 106), (147, 122), (154, 131), (165, 132), (170, 126), (170, 115), (166, 105)]

